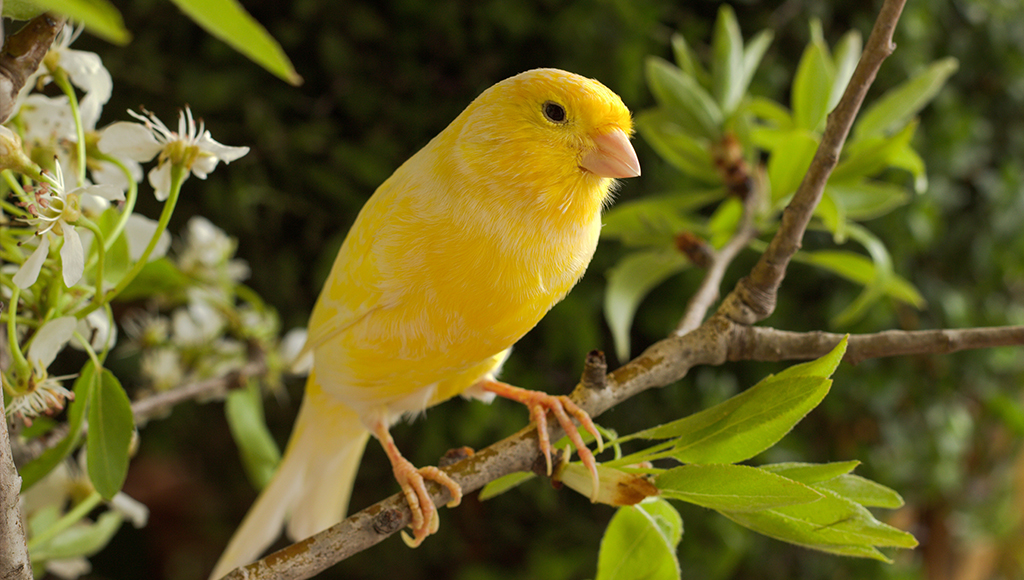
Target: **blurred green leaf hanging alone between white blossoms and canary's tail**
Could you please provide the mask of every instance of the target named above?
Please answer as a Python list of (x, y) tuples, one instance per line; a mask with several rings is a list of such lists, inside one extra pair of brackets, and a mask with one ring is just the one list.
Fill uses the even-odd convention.
[(263, 396), (256, 381), (227, 395), (224, 414), (253, 487), (263, 489), (281, 462), (281, 450), (266, 427)]

